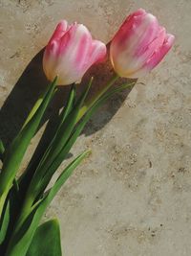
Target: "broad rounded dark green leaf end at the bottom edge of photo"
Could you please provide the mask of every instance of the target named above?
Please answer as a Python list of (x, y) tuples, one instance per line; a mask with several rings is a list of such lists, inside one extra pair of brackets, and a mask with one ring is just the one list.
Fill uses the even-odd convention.
[(26, 256), (61, 256), (60, 229), (57, 220), (41, 224), (35, 231)]

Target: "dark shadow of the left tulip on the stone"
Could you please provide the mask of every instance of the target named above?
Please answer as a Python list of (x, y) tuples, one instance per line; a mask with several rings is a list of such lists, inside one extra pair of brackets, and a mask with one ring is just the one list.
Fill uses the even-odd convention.
[[(0, 110), (0, 138), (5, 146), (8, 146), (11, 140), (22, 128), (32, 105), (36, 102), (40, 94), (46, 88), (48, 81), (42, 70), (42, 49), (28, 64), (21, 77), (13, 86), (10, 95)], [(56, 93), (53, 103), (48, 107), (46, 115), (41, 126), (50, 120), (49, 130), (53, 128), (58, 109), (63, 105), (68, 86), (62, 86)]]

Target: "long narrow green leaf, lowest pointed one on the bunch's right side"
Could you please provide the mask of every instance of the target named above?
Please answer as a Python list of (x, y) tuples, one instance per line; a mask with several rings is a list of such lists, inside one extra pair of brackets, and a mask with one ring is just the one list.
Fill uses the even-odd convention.
[(46, 208), (51, 203), (61, 186), (66, 182), (69, 176), (73, 174), (74, 169), (89, 154), (89, 152), (90, 151), (85, 151), (77, 156), (57, 178), (53, 188), (45, 194), (44, 198), (39, 200), (33, 206), (32, 212), (26, 217), (26, 219), (17, 223), (5, 256), (26, 256), (29, 246), (32, 243), (34, 232)]

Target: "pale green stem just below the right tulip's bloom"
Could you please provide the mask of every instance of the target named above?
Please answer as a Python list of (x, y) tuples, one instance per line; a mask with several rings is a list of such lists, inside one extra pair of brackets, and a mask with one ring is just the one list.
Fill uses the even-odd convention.
[(90, 109), (96, 103), (96, 101), (115, 83), (115, 81), (117, 81), (118, 78), (118, 75), (115, 74), (112, 79), (106, 83), (105, 86), (101, 87), (101, 89), (96, 92), (96, 95), (84, 103), (84, 105), (79, 110), (76, 123), (84, 116), (88, 109)]

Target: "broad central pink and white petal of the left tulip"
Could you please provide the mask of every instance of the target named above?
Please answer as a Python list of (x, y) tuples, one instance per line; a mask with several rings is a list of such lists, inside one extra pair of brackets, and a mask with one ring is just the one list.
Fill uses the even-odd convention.
[[(65, 38), (62, 38), (63, 45), (61, 54), (57, 59), (56, 69), (62, 84), (69, 84), (79, 81), (84, 75), (87, 65), (89, 65), (88, 54), (92, 35), (85, 26), (74, 24), (63, 37), (67, 38), (67, 45), (63, 43)], [(82, 45), (82, 43), (85, 43), (85, 45)]]

